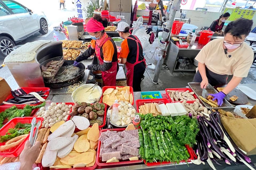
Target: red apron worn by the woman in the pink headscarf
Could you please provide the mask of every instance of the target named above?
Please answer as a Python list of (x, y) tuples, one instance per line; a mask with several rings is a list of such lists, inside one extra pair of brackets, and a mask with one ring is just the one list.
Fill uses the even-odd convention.
[[(107, 37), (101, 46), (104, 45), (105, 42), (111, 40), (110, 37)], [(103, 52), (104, 53), (104, 52)], [(99, 60), (99, 64), (103, 64), (103, 59), (101, 58), (101, 47), (99, 47), (96, 43), (95, 45), (95, 54)], [(103, 86), (115, 86), (117, 76), (117, 61), (112, 62), (112, 67), (107, 71), (102, 71), (102, 80)]]

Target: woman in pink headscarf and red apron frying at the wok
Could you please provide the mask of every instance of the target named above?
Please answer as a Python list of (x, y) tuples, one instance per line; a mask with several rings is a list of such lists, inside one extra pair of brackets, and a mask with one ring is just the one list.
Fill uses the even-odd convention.
[(74, 64), (88, 59), (94, 53), (99, 64), (87, 66), (89, 70), (102, 71), (103, 86), (115, 86), (118, 72), (117, 47), (114, 41), (105, 33), (108, 21), (100, 15), (94, 15), (87, 24), (86, 30), (91, 36), (91, 46), (75, 60)]

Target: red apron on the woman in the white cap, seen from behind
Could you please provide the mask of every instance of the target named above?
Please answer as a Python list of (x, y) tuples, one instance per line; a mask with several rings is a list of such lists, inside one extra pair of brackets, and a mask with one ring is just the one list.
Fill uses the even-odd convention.
[[(138, 37), (137, 36), (134, 36), (136, 39), (134, 38), (131, 38), (131, 37), (127, 37), (127, 39), (131, 39), (131, 40), (134, 40), (136, 41), (137, 43), (137, 55), (136, 55), (136, 62), (134, 64), (131, 64), (129, 62), (126, 61), (125, 63), (125, 66), (126, 66), (126, 69), (127, 69), (127, 73), (126, 73), (126, 76), (127, 76), (127, 81), (126, 81), (126, 84), (127, 86), (133, 86), (133, 71), (134, 71), (134, 66), (136, 64), (139, 64), (141, 62), (144, 62), (145, 63), (145, 67), (146, 67), (146, 60), (145, 58), (141, 61), (139, 61), (139, 44), (141, 45), (141, 42), (139, 41)], [(142, 45), (141, 45), (142, 47)]]

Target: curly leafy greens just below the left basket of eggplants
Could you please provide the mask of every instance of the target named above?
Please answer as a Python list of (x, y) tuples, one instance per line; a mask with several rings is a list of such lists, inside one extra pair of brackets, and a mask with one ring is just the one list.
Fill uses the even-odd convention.
[(23, 109), (18, 109), (16, 106), (10, 107), (0, 113), (0, 128), (3, 127), (3, 122), (7, 118), (8, 121), (14, 117), (30, 116), (33, 109), (45, 106), (45, 102), (37, 106), (26, 105)]

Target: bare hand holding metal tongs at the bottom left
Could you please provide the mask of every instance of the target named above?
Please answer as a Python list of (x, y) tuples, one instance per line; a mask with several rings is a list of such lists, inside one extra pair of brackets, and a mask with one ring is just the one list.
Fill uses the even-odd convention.
[(35, 145), (30, 147), (30, 141), (26, 141), (23, 151), (19, 156), (19, 161), (21, 162), (21, 169), (32, 169), (32, 165), (37, 160), (40, 153), (40, 142), (35, 142)]

